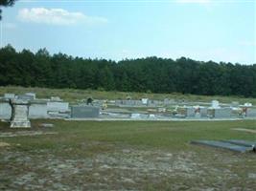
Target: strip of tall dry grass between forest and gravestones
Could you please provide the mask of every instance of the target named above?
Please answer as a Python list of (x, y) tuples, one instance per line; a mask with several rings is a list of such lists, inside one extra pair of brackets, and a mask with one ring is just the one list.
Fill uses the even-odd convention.
[(231, 101), (239, 101), (240, 103), (251, 102), (256, 105), (256, 98), (244, 98), (239, 96), (196, 96), (181, 94), (146, 94), (146, 93), (124, 93), (124, 92), (103, 92), (96, 90), (78, 90), (78, 89), (47, 89), (47, 88), (24, 88), (7, 86), (0, 87), (0, 95), (5, 93), (24, 94), (35, 92), (39, 98), (50, 98), (51, 96), (60, 96), (67, 101), (76, 101), (78, 99), (86, 99), (92, 96), (95, 99), (126, 99), (131, 96), (133, 99), (148, 97), (151, 99), (163, 100), (164, 98), (189, 100), (189, 101), (205, 101), (210, 102), (217, 99), (223, 103), (231, 103)]

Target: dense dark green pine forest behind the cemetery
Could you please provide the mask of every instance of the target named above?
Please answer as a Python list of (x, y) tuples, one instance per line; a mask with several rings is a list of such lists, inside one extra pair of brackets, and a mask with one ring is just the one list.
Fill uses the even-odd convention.
[(0, 86), (256, 97), (256, 64), (147, 57), (119, 62), (0, 49)]

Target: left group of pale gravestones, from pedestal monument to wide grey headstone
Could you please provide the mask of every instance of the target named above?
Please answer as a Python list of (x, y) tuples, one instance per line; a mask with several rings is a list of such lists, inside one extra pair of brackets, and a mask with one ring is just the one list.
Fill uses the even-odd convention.
[(5, 94), (0, 97), (0, 119), (10, 120), (11, 127), (30, 128), (30, 119), (99, 117), (100, 108), (92, 105), (69, 106), (58, 96), (36, 98), (35, 93)]

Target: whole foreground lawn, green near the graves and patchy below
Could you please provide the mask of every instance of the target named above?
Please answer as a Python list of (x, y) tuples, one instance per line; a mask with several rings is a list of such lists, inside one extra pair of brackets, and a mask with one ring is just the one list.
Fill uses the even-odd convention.
[[(42, 128), (42, 122), (53, 123)], [(210, 122), (33, 120), (32, 132), (1, 138), (0, 189), (254, 190), (256, 155), (191, 145), (192, 139), (247, 139), (255, 120)], [(0, 136), (10, 130), (0, 123)]]

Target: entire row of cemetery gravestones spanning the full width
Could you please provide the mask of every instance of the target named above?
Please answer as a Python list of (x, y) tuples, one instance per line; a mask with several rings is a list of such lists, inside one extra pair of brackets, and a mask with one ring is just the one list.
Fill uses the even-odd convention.
[[(93, 100), (70, 105), (58, 96), (36, 98), (35, 93), (24, 95), (5, 94), (0, 97), (0, 119), (11, 121), (11, 127), (30, 127), (33, 118), (130, 118), (130, 119), (172, 119), (181, 118), (239, 118), (256, 117), (256, 108), (250, 103), (239, 105), (220, 104), (212, 101), (207, 106), (186, 106), (193, 102), (175, 100)], [(178, 105), (183, 106), (178, 106)], [(205, 103), (202, 103), (205, 104)], [(107, 108), (107, 105), (110, 108)], [(174, 108), (170, 109), (170, 107)], [(107, 108), (107, 109), (106, 109)], [(138, 108), (143, 108), (139, 110)], [(146, 109), (146, 110), (145, 110)], [(170, 112), (171, 111), (171, 112)]]

